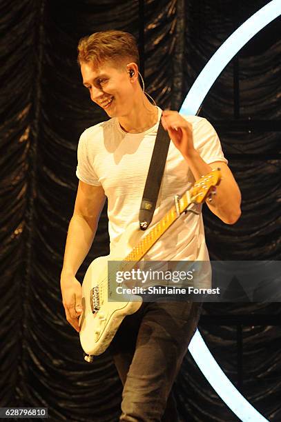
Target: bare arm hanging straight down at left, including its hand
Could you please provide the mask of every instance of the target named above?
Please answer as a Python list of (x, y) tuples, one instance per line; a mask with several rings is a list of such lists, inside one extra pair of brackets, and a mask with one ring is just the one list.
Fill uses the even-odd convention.
[(81, 314), (81, 284), (75, 275), (93, 243), (99, 215), (106, 196), (101, 186), (79, 181), (75, 209), (70, 220), (64, 265), (61, 271), (61, 294), (66, 319), (79, 332), (78, 316)]

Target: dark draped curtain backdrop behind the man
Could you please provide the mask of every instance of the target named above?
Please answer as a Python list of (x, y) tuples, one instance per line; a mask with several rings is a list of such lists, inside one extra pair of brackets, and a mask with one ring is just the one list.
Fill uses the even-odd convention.
[[(81, 85), (77, 41), (107, 29), (135, 34), (148, 92), (162, 108), (178, 110), (212, 54), (266, 3), (0, 1), (0, 406), (48, 407), (51, 421), (119, 415), (122, 386), (110, 356), (84, 362), (59, 288), (79, 134), (106, 119)], [(212, 259), (281, 259), (279, 35), (277, 19), (229, 63), (200, 112), (217, 129), (243, 197), (235, 225), (204, 211)], [(80, 281), (106, 253), (104, 210)], [(231, 325), (229, 316), (242, 319)], [(281, 420), (279, 321), (278, 303), (206, 303), (200, 323), (224, 372), (270, 421)], [(189, 354), (175, 391), (182, 421), (237, 420)]]

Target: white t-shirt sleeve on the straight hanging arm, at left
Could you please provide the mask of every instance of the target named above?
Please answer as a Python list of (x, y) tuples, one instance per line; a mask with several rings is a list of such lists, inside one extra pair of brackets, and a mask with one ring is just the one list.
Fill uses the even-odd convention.
[(78, 143), (78, 150), (77, 150), (77, 170), (76, 175), (79, 180), (88, 183), (89, 185), (99, 186), (101, 183), (99, 182), (99, 178), (95, 173), (93, 168), (93, 164), (90, 162), (90, 158), (88, 156), (88, 146), (87, 146), (87, 135), (86, 131), (81, 134)]

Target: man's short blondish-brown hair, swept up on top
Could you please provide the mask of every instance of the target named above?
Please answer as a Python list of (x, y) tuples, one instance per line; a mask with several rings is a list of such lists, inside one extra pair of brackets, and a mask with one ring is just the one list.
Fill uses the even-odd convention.
[(99, 66), (111, 61), (121, 67), (124, 61), (133, 61), (139, 67), (137, 41), (132, 34), (117, 30), (94, 32), (80, 39), (78, 44), (78, 63), (92, 62)]

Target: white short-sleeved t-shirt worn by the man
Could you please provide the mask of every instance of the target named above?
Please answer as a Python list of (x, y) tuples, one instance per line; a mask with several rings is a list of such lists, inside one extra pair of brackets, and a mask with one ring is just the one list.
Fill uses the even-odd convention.
[[(124, 132), (117, 118), (86, 129), (79, 139), (77, 177), (90, 185), (101, 185), (108, 198), (110, 250), (124, 230), (139, 221), (146, 176), (157, 134), (158, 122), (142, 133)], [(193, 125), (193, 143), (206, 163), (224, 161), (220, 139), (202, 117), (184, 117)], [(168, 149), (162, 184), (150, 228), (162, 219), (174, 203), (173, 197), (191, 188), (195, 179), (173, 141)], [(195, 205), (201, 211), (201, 205)], [(148, 251), (145, 260), (208, 261), (202, 214), (182, 214)]]

